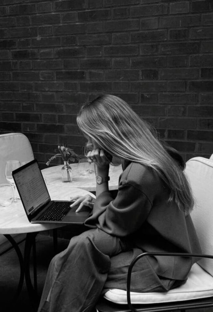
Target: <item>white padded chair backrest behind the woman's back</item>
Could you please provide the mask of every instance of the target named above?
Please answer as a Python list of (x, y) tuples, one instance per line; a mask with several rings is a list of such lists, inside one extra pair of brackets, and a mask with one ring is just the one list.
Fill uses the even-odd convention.
[[(186, 163), (185, 173), (195, 198), (191, 217), (202, 252), (213, 255), (213, 160), (191, 158)], [(202, 259), (198, 263), (213, 276), (213, 260)]]

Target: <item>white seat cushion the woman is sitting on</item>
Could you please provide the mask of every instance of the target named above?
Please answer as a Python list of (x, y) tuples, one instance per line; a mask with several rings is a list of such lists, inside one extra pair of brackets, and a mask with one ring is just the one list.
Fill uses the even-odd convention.
[[(132, 304), (165, 303), (213, 296), (213, 277), (195, 263), (185, 284), (165, 293), (131, 292)], [(117, 304), (127, 304), (126, 290), (108, 290), (104, 298)]]

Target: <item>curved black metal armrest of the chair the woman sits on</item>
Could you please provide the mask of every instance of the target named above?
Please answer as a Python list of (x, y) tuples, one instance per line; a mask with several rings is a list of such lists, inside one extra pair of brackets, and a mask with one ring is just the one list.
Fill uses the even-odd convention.
[(178, 256), (178, 257), (192, 257), (192, 258), (210, 258), (213, 259), (211, 255), (202, 255), (202, 254), (192, 254), (192, 253), (181, 253), (181, 252), (143, 252), (140, 255), (136, 256), (132, 260), (127, 273), (127, 286), (126, 286), (126, 295), (128, 307), (132, 312), (137, 312), (137, 310), (131, 304), (130, 298), (130, 284), (131, 284), (131, 272), (135, 263), (144, 256)]

